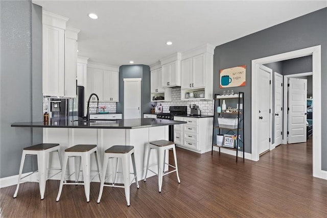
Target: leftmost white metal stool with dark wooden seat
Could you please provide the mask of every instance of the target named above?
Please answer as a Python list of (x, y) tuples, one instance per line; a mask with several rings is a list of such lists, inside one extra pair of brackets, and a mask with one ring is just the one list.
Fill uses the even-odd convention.
[[(57, 152), (60, 162), (60, 168), (48, 168), (48, 162), (49, 162), (49, 155), (51, 152)], [(24, 167), (24, 162), (26, 156), (37, 156), (37, 168), (38, 170), (29, 173), (29, 175), (26, 175), (24, 177), (21, 177), (22, 168)], [(50, 167), (50, 166), (49, 166)], [(16, 191), (14, 193), (14, 198), (17, 197), (19, 184), (21, 182), (30, 182), (30, 181), (23, 181), (22, 179), (31, 176), (33, 173), (38, 172), (38, 182), (39, 183), (39, 189), (40, 189), (40, 195), (41, 199), (44, 199), (44, 192), (45, 192), (45, 183), (46, 180), (51, 179), (52, 177), (56, 176), (58, 173), (61, 172), (62, 167), (62, 161), (61, 161), (61, 155), (60, 155), (60, 146), (58, 143), (41, 143), (32, 145), (30, 147), (25, 147), (22, 151), (21, 161), (20, 161), (20, 167), (19, 167), (19, 175), (18, 175), (18, 183), (16, 187)], [(48, 177), (48, 170), (58, 170), (54, 175)], [(32, 181), (31, 181), (32, 182)]]

